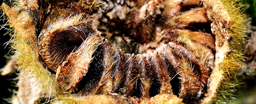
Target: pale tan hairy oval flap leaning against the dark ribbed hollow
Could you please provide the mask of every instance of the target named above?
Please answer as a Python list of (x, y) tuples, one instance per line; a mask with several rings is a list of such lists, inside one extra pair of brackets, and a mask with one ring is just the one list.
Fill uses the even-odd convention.
[(57, 83), (65, 86), (66, 89), (70, 89), (82, 80), (89, 70), (92, 54), (100, 44), (101, 40), (98, 34), (92, 34), (92, 36), (86, 38), (81, 47), (76, 52), (71, 53), (67, 60), (58, 67), (56, 73)]

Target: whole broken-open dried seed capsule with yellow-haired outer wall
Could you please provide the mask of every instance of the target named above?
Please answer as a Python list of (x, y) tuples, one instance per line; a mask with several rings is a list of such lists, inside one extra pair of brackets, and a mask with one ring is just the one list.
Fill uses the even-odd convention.
[(234, 4), (18, 0), (10, 7), (3, 3), (15, 29), (11, 62), (21, 73), (12, 101), (229, 102), (243, 67), (247, 31), (245, 15)]

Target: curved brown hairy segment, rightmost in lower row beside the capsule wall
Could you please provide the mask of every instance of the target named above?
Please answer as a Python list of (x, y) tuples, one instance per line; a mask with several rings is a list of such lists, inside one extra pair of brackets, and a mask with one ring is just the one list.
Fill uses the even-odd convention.
[[(164, 47), (164, 57), (180, 76), (181, 89), (179, 97), (190, 103), (198, 103), (202, 95), (201, 92), (204, 92), (206, 87), (207, 71), (200, 64), (200, 61), (195, 58), (189, 58), (193, 57), (193, 55), (189, 55), (189, 52), (186, 52), (187, 50), (181, 45), (173, 43), (169, 43), (169, 45)], [(190, 96), (190, 99), (187, 99), (188, 96)]]

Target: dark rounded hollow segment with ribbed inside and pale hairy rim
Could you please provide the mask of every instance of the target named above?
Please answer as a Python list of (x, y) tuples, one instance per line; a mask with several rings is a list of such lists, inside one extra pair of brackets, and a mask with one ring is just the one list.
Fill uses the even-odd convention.
[(95, 32), (88, 21), (82, 20), (82, 15), (60, 20), (40, 34), (39, 53), (46, 65), (56, 72), (68, 55)]

